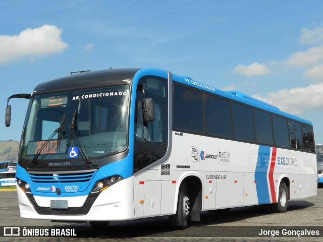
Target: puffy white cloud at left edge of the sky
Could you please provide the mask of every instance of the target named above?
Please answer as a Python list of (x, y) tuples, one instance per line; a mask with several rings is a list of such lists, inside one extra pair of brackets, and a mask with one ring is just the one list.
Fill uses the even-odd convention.
[(18, 61), (22, 57), (62, 52), (68, 47), (61, 38), (62, 29), (55, 25), (22, 31), (19, 35), (0, 35), (0, 64)]

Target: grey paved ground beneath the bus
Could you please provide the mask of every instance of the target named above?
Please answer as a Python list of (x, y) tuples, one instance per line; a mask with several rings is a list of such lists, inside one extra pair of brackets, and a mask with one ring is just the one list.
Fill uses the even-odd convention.
[[(5, 227), (19, 226), (35, 229), (58, 228), (71, 231), (74, 236), (3, 236)], [(29, 227), (32, 226), (32, 227)], [(297, 226), (297, 227), (295, 227)], [(270, 235), (260, 236), (262, 230)], [(318, 236), (271, 236), (276, 230), (318, 231)], [(30, 230), (30, 231), (31, 231)], [(274, 230), (274, 232), (273, 232)], [(50, 232), (49, 232), (50, 233)], [(0, 190), (0, 241), (323, 241), (323, 188), (317, 196), (303, 201), (290, 201), (287, 213), (274, 214), (266, 208), (251, 206), (234, 208), (228, 214), (201, 212), (201, 222), (191, 223), (185, 230), (168, 226), (168, 218), (142, 219), (128, 222), (111, 222), (104, 228), (93, 229), (89, 223), (51, 222), (21, 218), (16, 191)]]

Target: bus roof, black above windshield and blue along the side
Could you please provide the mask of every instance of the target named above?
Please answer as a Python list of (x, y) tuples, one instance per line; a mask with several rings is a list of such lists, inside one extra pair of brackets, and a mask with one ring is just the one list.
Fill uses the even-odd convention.
[[(41, 83), (34, 89), (33, 94), (60, 92), (65, 90), (75, 90), (75, 89), (83, 89), (83, 88), (103, 87), (107, 85), (120, 84), (122, 82), (131, 83), (133, 81), (135, 74), (139, 70), (141, 70), (143, 73), (145, 72), (150, 73), (150, 75), (153, 75), (154, 72), (160, 73), (160, 71), (163, 71), (163, 70), (153, 69), (153, 68), (145, 68), (145, 69), (128, 68), (128, 69), (107, 69), (107, 70), (94, 71), (94, 72), (81, 72), (79, 74), (70, 75), (70, 76)], [(89, 79), (91, 79), (91, 82), (89, 82)], [(270, 111), (278, 115), (282, 115), (290, 119), (297, 120), (298, 122), (312, 126), (312, 123), (306, 119), (300, 118), (293, 114), (283, 112), (276, 106), (263, 102), (259, 99), (253, 98), (239, 91), (222, 91), (212, 86), (209, 86), (200, 82), (196, 82), (189, 77), (179, 76), (176, 74), (173, 74), (173, 80), (176, 82), (182, 83), (184, 85), (195, 87), (231, 100), (242, 102), (250, 106), (260, 108), (266, 111)]]

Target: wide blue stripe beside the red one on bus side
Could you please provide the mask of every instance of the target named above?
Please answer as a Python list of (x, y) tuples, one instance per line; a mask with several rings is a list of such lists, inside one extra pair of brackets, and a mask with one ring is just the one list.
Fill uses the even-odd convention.
[(270, 196), (268, 191), (267, 170), (270, 164), (271, 147), (259, 145), (258, 158), (254, 179), (256, 180), (256, 190), (258, 197), (258, 204), (270, 203)]

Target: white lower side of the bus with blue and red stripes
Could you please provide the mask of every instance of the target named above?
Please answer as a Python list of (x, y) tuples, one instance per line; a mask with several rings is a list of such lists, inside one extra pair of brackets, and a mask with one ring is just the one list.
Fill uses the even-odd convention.
[[(190, 175), (202, 182), (202, 210), (277, 203), (282, 179), (291, 200), (315, 196), (315, 154), (180, 132), (172, 139), (165, 162), (135, 175), (136, 218), (174, 214), (180, 183)], [(159, 204), (159, 194), (157, 211), (151, 199)]]

